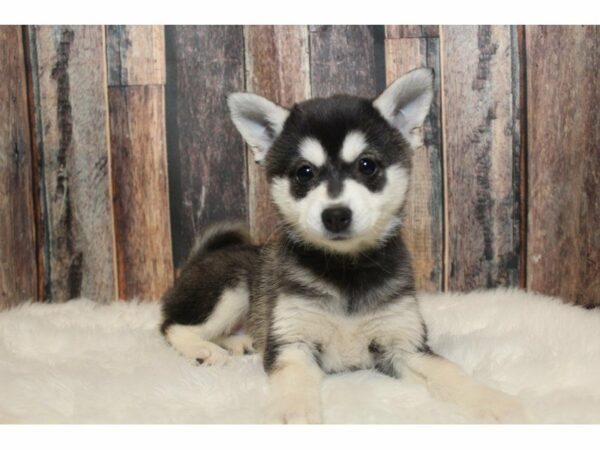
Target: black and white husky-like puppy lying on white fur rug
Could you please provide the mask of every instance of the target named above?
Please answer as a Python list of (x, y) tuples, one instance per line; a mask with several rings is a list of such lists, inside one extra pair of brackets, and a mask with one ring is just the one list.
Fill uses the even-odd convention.
[[(240, 225), (207, 230), (164, 295), (161, 330), (205, 365), (261, 352), (269, 421), (321, 422), (324, 374), (368, 368), (422, 382), (481, 420), (520, 420), (513, 397), (427, 345), (399, 231), (432, 85), (432, 71), (417, 69), (375, 100), (340, 95), (288, 110), (254, 94), (228, 98), (266, 168), (280, 236), (261, 247)], [(235, 334), (242, 324), (247, 334)]]

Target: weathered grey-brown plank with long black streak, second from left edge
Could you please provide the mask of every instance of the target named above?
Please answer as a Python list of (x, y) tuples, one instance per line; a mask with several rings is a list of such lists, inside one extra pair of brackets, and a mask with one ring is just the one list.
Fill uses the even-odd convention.
[(117, 294), (104, 30), (30, 27), (37, 147), (43, 164), (46, 295)]

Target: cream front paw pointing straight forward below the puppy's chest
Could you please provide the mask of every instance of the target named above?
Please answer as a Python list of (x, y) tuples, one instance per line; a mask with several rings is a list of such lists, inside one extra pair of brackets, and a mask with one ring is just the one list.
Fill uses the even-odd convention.
[(321, 405), (318, 399), (302, 395), (273, 398), (266, 421), (280, 424), (322, 423)]

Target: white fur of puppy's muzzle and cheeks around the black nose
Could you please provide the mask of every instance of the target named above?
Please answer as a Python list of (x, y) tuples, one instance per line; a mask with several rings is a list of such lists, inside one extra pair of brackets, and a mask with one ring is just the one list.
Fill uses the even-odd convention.
[[(335, 199), (329, 197), (326, 182), (296, 199), (290, 192), (289, 179), (276, 178), (271, 183), (271, 195), (287, 222), (303, 239), (338, 252), (360, 252), (385, 239), (399, 223), (397, 213), (406, 197), (409, 172), (400, 165), (389, 166), (385, 171), (385, 187), (379, 192), (371, 192), (358, 181), (347, 179)], [(323, 226), (323, 210), (334, 205), (352, 210), (348, 239), (329, 239)]]

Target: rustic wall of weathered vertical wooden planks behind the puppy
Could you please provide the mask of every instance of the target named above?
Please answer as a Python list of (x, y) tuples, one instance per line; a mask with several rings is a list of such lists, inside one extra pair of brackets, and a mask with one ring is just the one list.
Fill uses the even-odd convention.
[(272, 231), (225, 96), (436, 72), (406, 239), (427, 291), (600, 304), (597, 26), (2, 26), (0, 305), (158, 298), (207, 223)]

